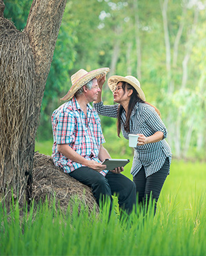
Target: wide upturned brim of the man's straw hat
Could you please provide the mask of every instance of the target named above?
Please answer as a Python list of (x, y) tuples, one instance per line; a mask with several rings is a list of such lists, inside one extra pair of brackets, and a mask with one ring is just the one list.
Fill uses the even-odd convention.
[(99, 79), (106, 75), (110, 71), (110, 68), (98, 68), (94, 69), (93, 71), (90, 71), (79, 78), (74, 84), (72, 84), (72, 87), (68, 91), (68, 93), (61, 98), (61, 100), (71, 100), (74, 97), (74, 94), (76, 91), (81, 89), (82, 86), (90, 82), (92, 79), (96, 78)]

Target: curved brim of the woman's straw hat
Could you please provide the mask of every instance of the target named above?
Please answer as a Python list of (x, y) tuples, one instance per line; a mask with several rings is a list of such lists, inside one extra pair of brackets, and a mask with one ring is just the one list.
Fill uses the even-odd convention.
[(107, 84), (110, 87), (110, 90), (112, 91), (112, 93), (114, 93), (115, 89), (116, 89), (116, 84), (118, 82), (127, 82), (128, 84), (131, 84), (132, 87), (134, 87), (134, 89), (138, 92), (139, 97), (141, 98), (141, 100), (145, 101), (145, 93), (143, 92), (143, 90), (134, 82), (132, 82), (130, 79), (127, 79), (126, 77), (123, 77), (121, 75), (112, 75), (108, 81)]

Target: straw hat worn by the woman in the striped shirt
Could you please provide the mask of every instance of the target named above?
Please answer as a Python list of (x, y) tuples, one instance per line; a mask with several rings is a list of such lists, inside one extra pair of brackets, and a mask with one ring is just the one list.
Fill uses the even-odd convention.
[(123, 77), (121, 75), (112, 75), (107, 82), (112, 93), (114, 93), (114, 91), (116, 89), (116, 84), (118, 82), (127, 82), (128, 84), (131, 84), (134, 87), (134, 89), (138, 92), (139, 97), (144, 101), (146, 100), (145, 93), (143, 93), (143, 90), (141, 89), (140, 82), (138, 82), (136, 77), (134, 77), (132, 75), (127, 75), (125, 77)]

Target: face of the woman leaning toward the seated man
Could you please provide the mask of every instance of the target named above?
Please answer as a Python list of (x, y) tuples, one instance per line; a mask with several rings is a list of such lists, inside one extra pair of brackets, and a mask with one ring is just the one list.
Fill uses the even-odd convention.
[(127, 90), (127, 86), (125, 86), (125, 91), (123, 90), (123, 82), (119, 82), (116, 84), (116, 89), (113, 93), (114, 96), (114, 102), (123, 104), (124, 102), (129, 102), (130, 101), (130, 95), (131, 95), (131, 90)]

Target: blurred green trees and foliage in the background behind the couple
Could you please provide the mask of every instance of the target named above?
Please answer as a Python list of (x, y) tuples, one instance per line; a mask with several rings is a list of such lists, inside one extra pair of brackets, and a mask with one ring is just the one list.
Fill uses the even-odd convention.
[[(50, 116), (61, 104), (59, 98), (70, 88), (70, 76), (80, 68), (91, 71), (109, 66), (117, 75), (138, 76), (147, 102), (161, 111), (174, 155), (187, 157), (192, 151), (204, 152), (205, 3), (168, 1), (165, 24), (163, 2), (68, 1), (45, 86), (39, 140), (52, 138)], [(5, 1), (5, 17), (12, 17), (21, 30), (31, 3), (32, 0)], [(167, 51), (165, 42), (169, 44)], [(112, 104), (107, 85), (103, 93), (105, 103)], [(115, 120), (101, 120), (105, 132), (110, 127), (116, 136)]]

